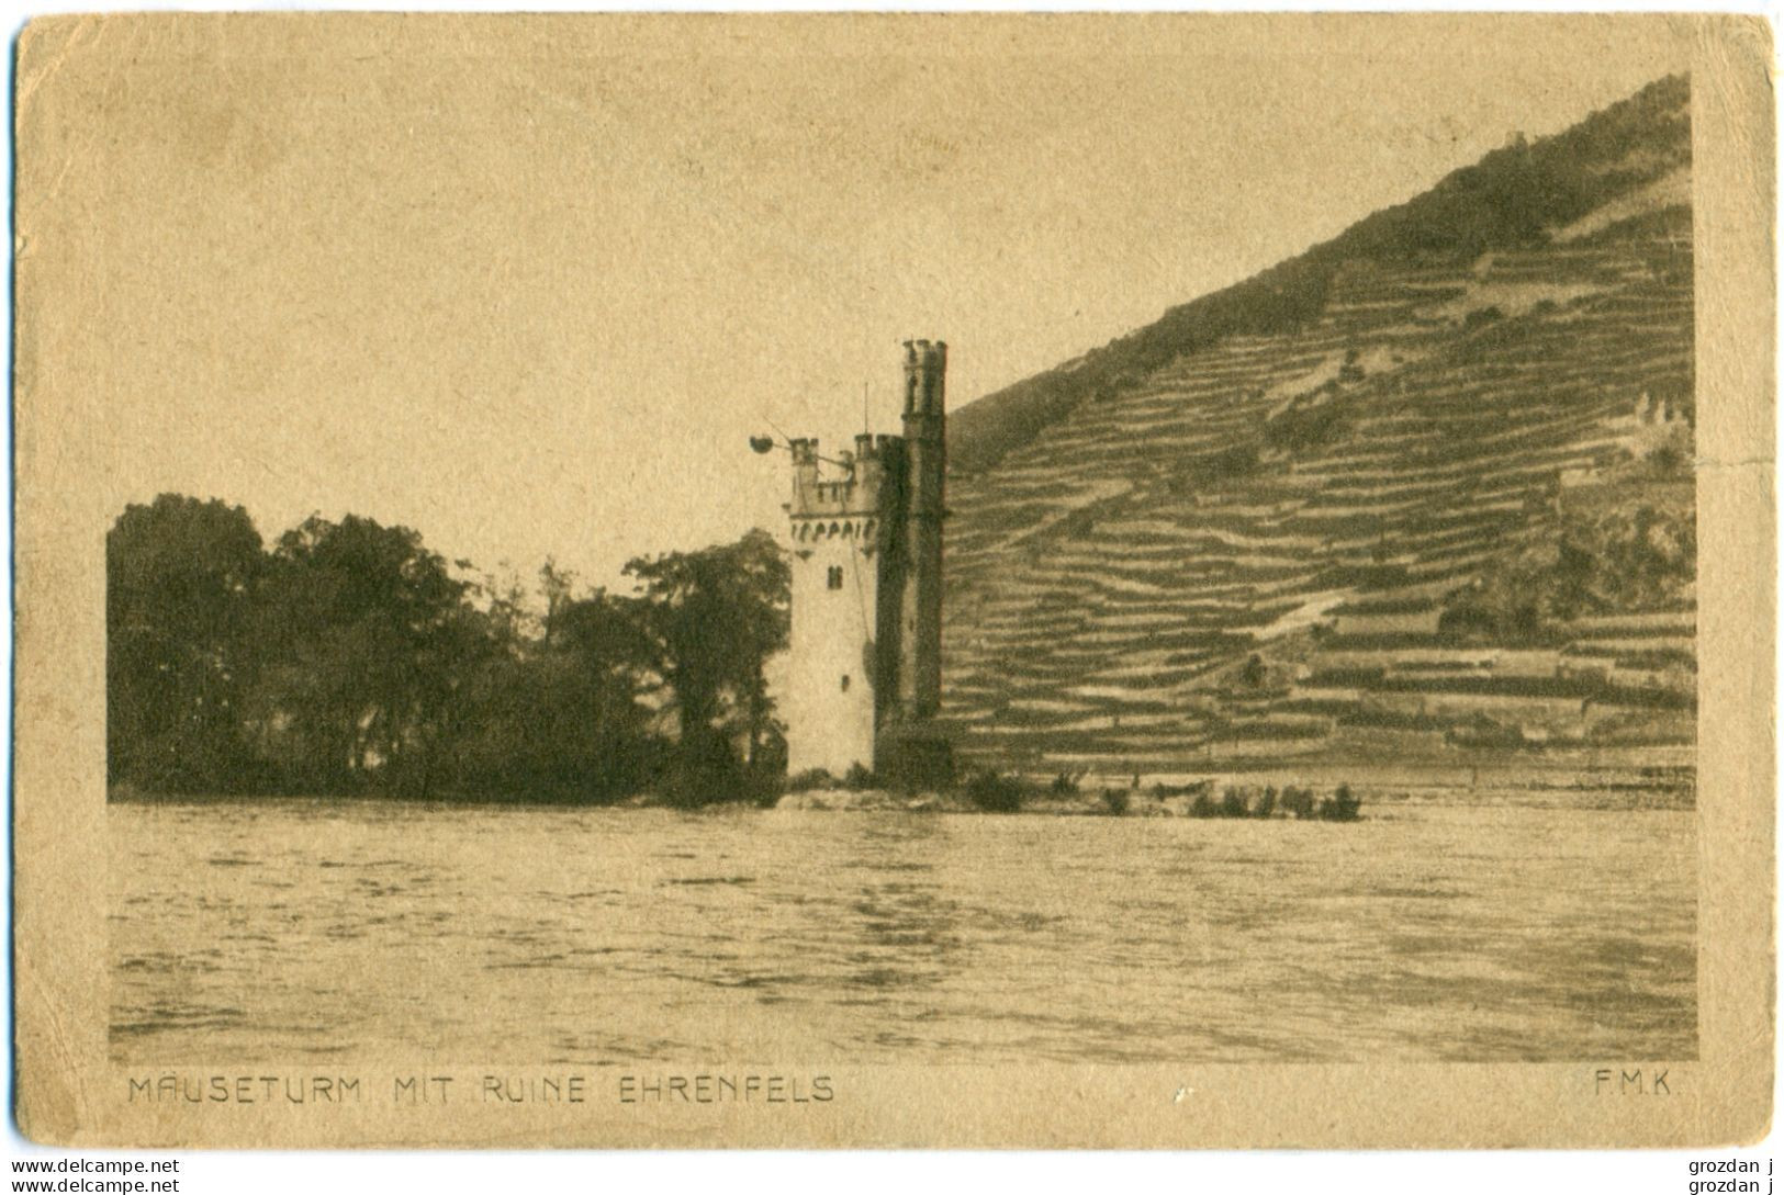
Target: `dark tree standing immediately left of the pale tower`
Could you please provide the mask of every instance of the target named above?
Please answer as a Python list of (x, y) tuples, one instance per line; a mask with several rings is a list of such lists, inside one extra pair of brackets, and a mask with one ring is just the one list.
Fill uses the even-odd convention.
[(680, 728), (680, 751), (696, 774), (735, 763), (731, 737), (755, 763), (774, 731), (764, 678), (787, 644), (790, 571), (767, 532), (735, 544), (626, 564), (640, 589), (639, 628), (664, 680)]

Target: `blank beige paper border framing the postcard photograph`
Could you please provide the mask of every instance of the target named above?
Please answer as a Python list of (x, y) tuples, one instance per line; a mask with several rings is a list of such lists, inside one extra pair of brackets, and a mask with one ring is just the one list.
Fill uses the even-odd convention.
[[(824, 1068), (828, 1104), (624, 1106), (617, 1072), (578, 1106), (394, 1108), (394, 1076), (546, 1074), (512, 1059), (350, 1058), (364, 1104), (143, 1104), (107, 1061), (103, 532), (111, 478), (143, 430), (191, 419), (120, 392), (130, 321), (75, 262), (105, 253), (103, 212), (68, 187), (71, 162), (128, 112), (102, 86), (107, 55), (599, 52), (962, 55), (1188, 52), (1201, 37), (1260, 52), (1416, 54), (1422, 39), (1481, 39), (1541, 55), (1554, 34), (1598, 23), (1688, 55), (1693, 71), (1698, 394), (1700, 760), (1698, 1015), (1695, 1061), (1568, 1065), (853, 1067)], [(103, 36), (102, 36), (103, 34)], [(1101, 1145), (1411, 1147), (1709, 1145), (1752, 1141), (1772, 1115), (1773, 1038), (1773, 191), (1772, 43), (1752, 18), (1552, 16), (926, 16), (926, 18), (466, 18), (132, 16), (32, 23), (18, 45), (16, 178), (16, 744), (14, 999), (18, 1118), (68, 1145)], [(1317, 102), (1311, 96), (1309, 102)], [(78, 178), (78, 171), (73, 171)], [(444, 182), (451, 182), (448, 177)], [(203, 196), (191, 196), (202, 202)], [(301, 253), (303, 246), (293, 246)], [(1183, 296), (1190, 298), (1190, 296)], [(253, 344), (194, 342), (194, 355)], [(216, 410), (227, 419), (227, 410)], [(655, 435), (640, 424), (640, 435)], [(475, 448), (478, 428), (448, 430)], [(189, 451), (225, 451), (203, 435)], [(326, 439), (314, 448), (330, 449)], [(469, 453), (467, 453), (469, 455)], [(653, 515), (635, 503), (639, 519)], [(542, 508), (539, 521), (571, 519)], [(730, 1070), (701, 1059), (699, 1070)], [(690, 1059), (689, 1072), (696, 1070)], [(1598, 1068), (1668, 1067), (1670, 1097), (1595, 1093)], [(309, 1076), (193, 1058), (180, 1076)], [(746, 1068), (737, 1068), (746, 1070)], [(756, 1068), (760, 1070), (760, 1068)], [(141, 1076), (141, 1072), (134, 1072)]]

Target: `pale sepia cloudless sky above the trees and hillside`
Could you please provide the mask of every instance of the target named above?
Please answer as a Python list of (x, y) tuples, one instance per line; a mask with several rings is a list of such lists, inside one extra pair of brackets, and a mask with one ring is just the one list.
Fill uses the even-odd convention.
[(603, 585), (780, 530), (746, 439), (896, 430), (904, 339), (958, 408), (1689, 62), (1663, 18), (353, 20), (27, 48), (21, 366), (107, 519)]

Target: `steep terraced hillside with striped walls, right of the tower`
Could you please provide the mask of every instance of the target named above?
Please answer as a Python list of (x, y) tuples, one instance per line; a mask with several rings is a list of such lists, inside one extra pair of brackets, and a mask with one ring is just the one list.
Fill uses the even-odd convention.
[(962, 754), (1688, 762), (1689, 155), (1668, 78), (965, 407)]

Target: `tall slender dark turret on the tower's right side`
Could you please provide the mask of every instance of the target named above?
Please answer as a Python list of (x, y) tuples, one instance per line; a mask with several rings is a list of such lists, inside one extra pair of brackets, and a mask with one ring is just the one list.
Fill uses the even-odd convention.
[[(946, 783), (953, 753), (935, 722), (942, 708), (942, 519), (947, 478), (947, 344), (904, 344), (904, 469), (897, 487), (901, 510), (885, 510), (885, 524), (901, 524), (896, 560), (881, 573), (883, 617), (896, 610), (897, 635), (876, 749), (876, 771), (906, 785)], [(894, 587), (896, 585), (896, 587)], [(887, 640), (892, 642), (887, 642)], [(892, 653), (885, 653), (890, 656)]]

